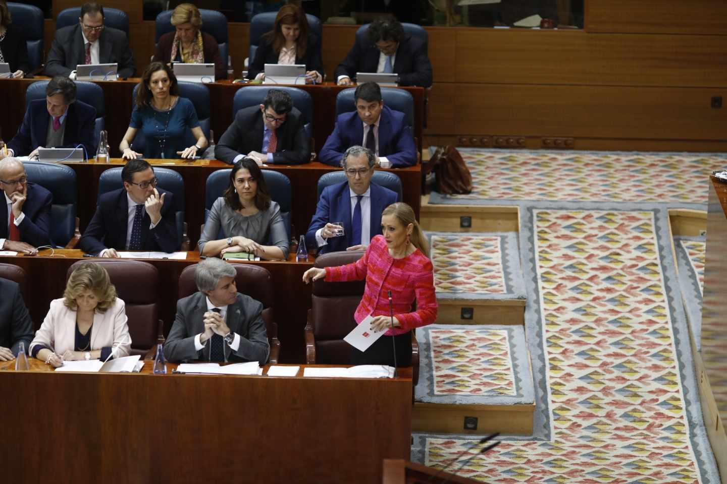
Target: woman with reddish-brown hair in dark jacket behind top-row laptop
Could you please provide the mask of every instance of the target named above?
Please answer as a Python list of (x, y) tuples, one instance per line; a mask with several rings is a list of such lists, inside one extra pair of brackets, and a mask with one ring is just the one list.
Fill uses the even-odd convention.
[(260, 39), (248, 77), (265, 79), (265, 64), (305, 64), (305, 83), (323, 81), (321, 39), (310, 32), (302, 8), (287, 4), (278, 10), (273, 30)]

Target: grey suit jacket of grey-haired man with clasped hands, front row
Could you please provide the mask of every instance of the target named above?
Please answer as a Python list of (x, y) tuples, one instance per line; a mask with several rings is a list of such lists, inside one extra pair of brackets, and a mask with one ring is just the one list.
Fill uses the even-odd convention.
[[(204, 348), (194, 349), (194, 337), (204, 332), (203, 317), (207, 312), (206, 295), (195, 292), (177, 301), (177, 316), (166, 337), (164, 357), (169, 361), (209, 361), (212, 340)], [(262, 303), (238, 292), (237, 299), (228, 305), (227, 325), (231, 332), (240, 335), (240, 346), (235, 353), (225, 343), (227, 361), (258, 361), (264, 365), (270, 354), (270, 343), (262, 320)]]

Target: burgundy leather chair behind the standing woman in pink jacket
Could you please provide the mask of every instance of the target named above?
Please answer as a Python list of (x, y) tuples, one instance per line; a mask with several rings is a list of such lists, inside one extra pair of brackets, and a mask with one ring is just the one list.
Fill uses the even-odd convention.
[[(361, 251), (332, 252), (321, 255), (315, 267), (342, 266), (358, 261)], [(350, 364), (350, 345), (343, 338), (356, 327), (356, 312), (364, 281), (313, 282), (313, 296), (308, 322), (316, 340), (316, 364)]]

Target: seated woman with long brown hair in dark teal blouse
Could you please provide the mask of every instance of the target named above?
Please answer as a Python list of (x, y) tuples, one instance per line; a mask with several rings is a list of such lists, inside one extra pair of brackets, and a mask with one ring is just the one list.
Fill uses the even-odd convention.
[[(141, 156), (174, 159), (201, 154), (207, 139), (199, 127), (194, 105), (179, 94), (177, 78), (168, 65), (152, 62), (144, 70), (137, 86), (131, 123), (119, 143), (121, 157), (127, 160)], [(146, 139), (143, 155), (131, 149), (139, 129)], [(185, 147), (188, 129), (192, 130), (196, 143)]]

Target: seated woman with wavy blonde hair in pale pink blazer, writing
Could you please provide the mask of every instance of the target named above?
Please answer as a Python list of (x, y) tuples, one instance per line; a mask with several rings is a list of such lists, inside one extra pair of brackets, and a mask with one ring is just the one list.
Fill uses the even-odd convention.
[(87, 262), (68, 278), (63, 298), (51, 301), (29, 351), (58, 367), (63, 360), (105, 360), (112, 350), (115, 358), (128, 356), (131, 343), (124, 301), (106, 269)]

